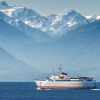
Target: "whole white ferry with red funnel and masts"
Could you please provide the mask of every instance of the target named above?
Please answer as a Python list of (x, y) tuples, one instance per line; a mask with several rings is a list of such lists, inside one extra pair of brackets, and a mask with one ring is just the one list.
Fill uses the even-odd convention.
[(45, 80), (35, 80), (38, 89), (97, 89), (97, 82), (90, 77), (69, 77), (67, 73), (61, 72), (61, 66), (58, 68), (59, 75), (53, 74), (46, 77)]

